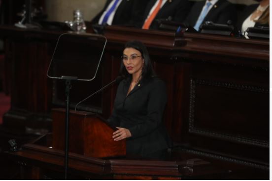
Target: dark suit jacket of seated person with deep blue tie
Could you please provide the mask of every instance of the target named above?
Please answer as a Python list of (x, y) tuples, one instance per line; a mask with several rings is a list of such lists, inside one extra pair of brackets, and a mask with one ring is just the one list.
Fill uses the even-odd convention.
[[(103, 12), (112, 0), (107, 0), (102, 11), (91, 21), (97, 24)], [(144, 9), (149, 0), (122, 0), (113, 17), (112, 25), (129, 25), (139, 27)]]

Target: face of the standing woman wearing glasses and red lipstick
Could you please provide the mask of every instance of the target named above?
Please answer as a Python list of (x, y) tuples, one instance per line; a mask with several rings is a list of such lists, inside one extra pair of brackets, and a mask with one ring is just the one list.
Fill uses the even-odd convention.
[(142, 71), (143, 57), (134, 48), (126, 48), (123, 52), (123, 63), (129, 74), (139, 76)]

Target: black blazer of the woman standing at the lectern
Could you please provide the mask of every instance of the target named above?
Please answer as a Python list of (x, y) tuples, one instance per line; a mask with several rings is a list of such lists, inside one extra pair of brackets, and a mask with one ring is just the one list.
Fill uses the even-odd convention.
[(165, 83), (159, 78), (142, 79), (128, 94), (131, 78), (120, 82), (108, 122), (129, 129), (127, 155), (149, 157), (167, 150), (170, 139), (162, 118), (167, 102)]

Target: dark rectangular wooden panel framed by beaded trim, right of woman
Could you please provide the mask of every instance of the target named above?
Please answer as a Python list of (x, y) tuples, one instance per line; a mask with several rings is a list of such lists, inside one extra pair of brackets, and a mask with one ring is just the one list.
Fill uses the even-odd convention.
[(267, 87), (191, 79), (190, 94), (190, 133), (269, 148)]

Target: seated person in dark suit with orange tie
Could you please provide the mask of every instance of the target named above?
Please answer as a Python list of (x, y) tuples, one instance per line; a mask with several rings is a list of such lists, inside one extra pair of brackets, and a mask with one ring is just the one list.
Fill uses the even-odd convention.
[(183, 22), (190, 11), (188, 0), (150, 0), (144, 12), (143, 29), (158, 29), (158, 20)]

